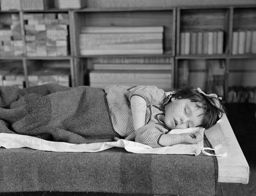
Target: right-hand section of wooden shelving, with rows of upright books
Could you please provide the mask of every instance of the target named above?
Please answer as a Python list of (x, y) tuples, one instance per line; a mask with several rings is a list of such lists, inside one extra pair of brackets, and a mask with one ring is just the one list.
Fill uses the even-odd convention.
[[(221, 84), (223, 88), (223, 97), (225, 101), (230, 100), (229, 89), (231, 86), (243, 86), (244, 88), (256, 86), (256, 71), (253, 68), (256, 63), (256, 55), (253, 52), (242, 52), (234, 55), (232, 52), (233, 32), (236, 31), (255, 31), (256, 30), (256, 6), (227, 6), (223, 9), (177, 9), (177, 37), (181, 32), (214, 31), (220, 29), (224, 32), (223, 54), (202, 54), (202, 55), (181, 55), (181, 44), (177, 38), (175, 56), (175, 69), (181, 70), (184, 62), (189, 61), (189, 66), (197, 69), (194, 61), (222, 61), (225, 68), (220, 76), (224, 81)], [(244, 33), (245, 34), (245, 33)], [(240, 36), (240, 35), (239, 35)], [(241, 41), (242, 42), (242, 41)], [(239, 43), (241, 44), (241, 43)], [(241, 46), (241, 45), (240, 45)], [(238, 44), (237, 44), (237, 47)], [(245, 46), (242, 46), (244, 48)], [(238, 49), (237, 49), (238, 50)], [(186, 64), (186, 63), (185, 63)], [(234, 68), (233, 66), (236, 66)], [(248, 66), (250, 68), (248, 68)], [(239, 69), (237, 69), (239, 67)], [(189, 71), (189, 68), (187, 68)], [(200, 70), (200, 69), (199, 69)], [(184, 72), (184, 70), (183, 70)], [(193, 78), (188, 78), (192, 81)], [(208, 78), (209, 79), (209, 78)], [(184, 78), (179, 78), (179, 72), (176, 71), (175, 86), (180, 87)], [(183, 81), (183, 84), (192, 84)], [(200, 81), (200, 80), (198, 80)], [(203, 82), (203, 80), (202, 80)], [(207, 82), (206, 82), (207, 84)], [(240, 85), (239, 85), (240, 84)], [(197, 84), (199, 85), (199, 83)], [(204, 88), (202, 85), (202, 88)], [(197, 87), (197, 86), (195, 86)], [(207, 89), (204, 89), (207, 91)]]

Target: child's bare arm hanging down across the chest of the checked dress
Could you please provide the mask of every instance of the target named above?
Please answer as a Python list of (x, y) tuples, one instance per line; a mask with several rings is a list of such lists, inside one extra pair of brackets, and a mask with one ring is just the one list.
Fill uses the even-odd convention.
[(134, 131), (125, 139), (134, 141), (137, 131), (145, 125), (147, 104), (144, 98), (134, 95), (131, 97), (131, 113), (133, 118)]

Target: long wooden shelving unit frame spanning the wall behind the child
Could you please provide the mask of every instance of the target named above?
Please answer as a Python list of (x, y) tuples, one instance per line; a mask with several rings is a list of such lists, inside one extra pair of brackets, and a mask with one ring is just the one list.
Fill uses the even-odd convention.
[[(98, 0), (95, 3), (99, 3)], [(104, 3), (103, 0), (101, 3)], [(89, 78), (90, 71), (94, 69), (93, 64), (102, 62), (102, 59), (105, 59), (104, 62), (119, 62), (122, 58), (122, 62), (126, 62), (127, 65), (131, 63), (146, 64), (146, 63), (159, 63), (163, 62), (164, 59), (169, 59), (170, 68), (172, 68), (172, 75), (170, 75), (169, 85), (172, 87), (179, 87), (179, 75), (178, 70), (183, 66), (183, 62), (190, 62), (188, 66), (188, 72), (196, 73), (198, 72), (207, 73), (207, 68), (202, 69), (200, 63), (199, 65), (196, 62), (214, 62), (220, 61), (222, 66), (225, 66), (224, 73), (224, 98), (227, 100), (228, 90), (231, 86), (237, 85), (232, 81), (232, 78), (245, 77), (251, 78), (251, 73), (254, 71), (253, 68), (247, 69), (247, 66), (251, 66), (255, 63), (255, 54), (253, 53), (244, 53), (233, 55), (233, 32), (241, 31), (255, 31), (256, 30), (256, 3), (252, 0), (246, 0), (243, 2), (232, 1), (232, 2), (212, 2), (205, 1), (201, 3), (196, 3), (196, 5), (188, 4), (184, 5), (179, 2), (171, 1), (155, 1), (149, 3), (134, 1), (136, 3), (136, 8), (134, 4), (129, 5), (128, 9), (123, 8), (100, 8), (96, 9), (91, 5), (90, 7), (84, 9), (49, 9), (49, 10), (40, 10), (40, 11), (1, 11), (0, 12), (0, 21), (1, 23), (11, 24), (10, 18), (12, 14), (18, 14), (20, 17), (20, 29), (21, 35), (25, 35), (24, 28), (24, 14), (33, 14), (33, 13), (66, 13), (69, 17), (69, 38), (68, 38), (68, 54), (66, 56), (55, 56), (55, 57), (27, 57), (26, 56), (26, 47), (24, 46), (24, 55), (20, 56), (8, 56), (1, 55), (0, 61), (18, 61), (21, 63), (21, 67), (26, 70), (31, 68), (31, 63), (42, 66), (42, 69), (47, 68), (47, 64), (54, 66), (53, 62), (57, 62), (56, 67), (58, 69), (68, 69), (70, 70), (71, 75), (71, 86), (80, 86), (80, 85), (90, 85)], [(139, 4), (138, 4), (139, 3)], [(141, 5), (143, 3), (143, 7)], [(214, 5), (212, 5), (212, 3)], [(99, 5), (99, 4), (97, 4)], [(6, 20), (8, 19), (8, 20)], [(122, 27), (122, 26), (134, 26), (134, 27), (143, 27), (143, 26), (163, 26), (163, 53), (162, 54), (111, 54), (111, 55), (81, 55), (80, 54), (80, 40), (79, 35), (83, 27)], [(2, 26), (0, 27), (0, 29)], [(212, 32), (220, 31), (223, 32), (221, 35), (221, 53), (205, 53), (198, 54), (193, 52), (188, 53), (187, 55), (181, 53), (181, 42), (180, 35), (182, 32), (191, 32), (195, 35), (195, 32), (206, 32), (206, 35), (212, 35)], [(216, 35), (216, 34), (215, 34)], [(190, 35), (189, 35), (190, 36)], [(208, 40), (209, 41), (209, 40)], [(219, 40), (218, 40), (219, 41)], [(220, 41), (219, 41), (220, 42)], [(215, 44), (215, 43), (214, 43)], [(182, 46), (183, 47), (183, 46)], [(216, 47), (216, 46), (214, 46)], [(195, 49), (195, 47), (193, 48)], [(216, 48), (215, 48), (216, 50)], [(191, 51), (191, 50), (190, 50)], [(109, 59), (109, 60), (106, 60)], [(116, 60), (115, 60), (116, 59)], [(143, 59), (140, 61), (138, 59)], [(157, 59), (157, 60), (154, 60)], [(62, 62), (62, 63), (61, 63)], [(143, 63), (144, 62), (144, 63)], [(241, 65), (239, 65), (241, 63)], [(16, 63), (17, 64), (17, 63)], [(61, 67), (61, 64), (63, 66)], [(167, 63), (168, 64), (168, 63)], [(233, 67), (236, 66), (236, 68)], [(142, 66), (142, 65), (141, 65)], [(240, 66), (237, 69), (237, 66)], [(140, 67), (140, 66), (139, 66)], [(157, 70), (156, 72), (160, 71)], [(231, 75), (230, 75), (231, 74)], [(255, 78), (255, 77), (254, 77)], [(201, 83), (206, 83), (207, 78), (198, 79)], [(234, 80), (234, 79), (233, 79)], [(250, 83), (251, 80), (251, 83)], [(255, 86), (255, 79), (251, 78), (247, 80), (242, 85)], [(29, 86), (29, 81), (27, 78), (24, 79), (25, 84)], [(196, 79), (189, 79), (191, 85), (196, 85)], [(236, 81), (237, 82), (237, 81)], [(190, 85), (188, 83), (188, 85)], [(195, 86), (198, 87), (198, 86)], [(206, 89), (204, 89), (206, 90)]]

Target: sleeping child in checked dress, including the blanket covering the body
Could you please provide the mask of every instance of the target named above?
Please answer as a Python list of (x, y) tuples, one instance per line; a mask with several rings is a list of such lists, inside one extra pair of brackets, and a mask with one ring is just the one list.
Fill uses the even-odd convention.
[[(0, 132), (73, 144), (135, 140), (151, 147), (195, 144), (202, 133), (173, 129), (212, 127), (225, 113), (216, 96), (192, 87), (165, 92), (156, 86), (0, 86)], [(173, 138), (179, 138), (179, 141)]]

